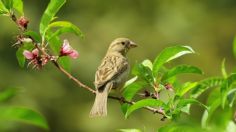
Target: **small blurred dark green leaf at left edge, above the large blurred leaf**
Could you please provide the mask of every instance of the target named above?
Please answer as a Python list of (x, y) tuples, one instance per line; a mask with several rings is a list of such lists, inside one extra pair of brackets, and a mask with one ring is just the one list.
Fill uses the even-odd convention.
[(12, 97), (14, 97), (17, 93), (16, 88), (5, 88), (4, 90), (0, 91), (0, 102), (5, 102)]

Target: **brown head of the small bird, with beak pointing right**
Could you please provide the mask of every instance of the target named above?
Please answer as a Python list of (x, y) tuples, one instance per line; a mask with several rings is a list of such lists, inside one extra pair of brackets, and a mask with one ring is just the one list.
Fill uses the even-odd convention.
[(137, 47), (137, 44), (132, 42), (128, 38), (117, 38), (114, 41), (112, 41), (108, 51), (109, 52), (119, 52), (123, 55), (126, 55), (126, 53), (129, 51), (131, 48)]

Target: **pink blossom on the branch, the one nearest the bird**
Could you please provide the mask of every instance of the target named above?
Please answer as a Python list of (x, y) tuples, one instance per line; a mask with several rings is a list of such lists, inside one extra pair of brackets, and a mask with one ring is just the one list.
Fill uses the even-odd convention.
[(78, 58), (79, 53), (70, 46), (68, 40), (64, 40), (61, 47), (60, 56), (70, 56), (72, 59), (76, 59)]

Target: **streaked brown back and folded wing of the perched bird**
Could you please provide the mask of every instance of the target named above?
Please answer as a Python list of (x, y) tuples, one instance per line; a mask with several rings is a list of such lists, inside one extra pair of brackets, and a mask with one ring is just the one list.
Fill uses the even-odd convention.
[(95, 75), (95, 87), (99, 89), (128, 68), (128, 61), (121, 56), (106, 56)]

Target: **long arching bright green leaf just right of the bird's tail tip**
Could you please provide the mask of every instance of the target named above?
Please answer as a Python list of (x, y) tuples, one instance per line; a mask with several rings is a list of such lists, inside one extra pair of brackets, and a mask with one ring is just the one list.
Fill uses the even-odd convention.
[(135, 110), (137, 109), (140, 109), (140, 108), (143, 108), (143, 107), (146, 107), (146, 106), (150, 106), (150, 107), (160, 107), (160, 108), (163, 108), (163, 109), (166, 109), (167, 106), (164, 102), (162, 102), (161, 100), (156, 100), (156, 99), (143, 99), (141, 101), (138, 101), (136, 102), (134, 105), (131, 105), (126, 114), (125, 114), (125, 117), (128, 118), (128, 116), (134, 112)]

